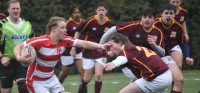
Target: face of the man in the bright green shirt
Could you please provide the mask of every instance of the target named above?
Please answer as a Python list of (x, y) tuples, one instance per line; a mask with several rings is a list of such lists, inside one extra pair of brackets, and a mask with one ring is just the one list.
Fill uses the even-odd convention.
[(11, 3), (8, 7), (9, 16), (12, 19), (18, 19), (20, 17), (20, 12), (21, 8), (19, 3)]

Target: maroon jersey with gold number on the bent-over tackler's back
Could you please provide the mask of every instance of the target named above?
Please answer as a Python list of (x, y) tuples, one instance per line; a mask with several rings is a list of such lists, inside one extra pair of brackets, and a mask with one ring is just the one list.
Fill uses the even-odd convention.
[(123, 66), (128, 67), (137, 78), (144, 78), (148, 81), (169, 69), (155, 52), (145, 47), (125, 45), (120, 56), (128, 59)]

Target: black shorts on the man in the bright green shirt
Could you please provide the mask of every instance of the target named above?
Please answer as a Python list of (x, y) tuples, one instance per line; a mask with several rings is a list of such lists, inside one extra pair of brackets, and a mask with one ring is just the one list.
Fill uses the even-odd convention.
[(10, 64), (1, 68), (2, 88), (12, 88), (13, 81), (19, 78), (26, 78), (27, 67), (23, 67), (17, 60), (11, 59)]

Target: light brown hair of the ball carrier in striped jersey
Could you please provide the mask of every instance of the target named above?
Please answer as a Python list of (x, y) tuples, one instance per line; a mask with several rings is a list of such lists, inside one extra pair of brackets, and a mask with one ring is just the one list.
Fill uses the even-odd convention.
[(60, 21), (66, 21), (66, 19), (58, 16), (51, 17), (46, 26), (46, 34), (50, 34), (52, 27), (58, 26)]

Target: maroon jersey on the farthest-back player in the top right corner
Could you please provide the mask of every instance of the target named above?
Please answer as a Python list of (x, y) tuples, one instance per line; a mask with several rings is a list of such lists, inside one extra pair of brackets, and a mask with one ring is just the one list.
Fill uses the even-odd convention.
[(175, 20), (182, 24), (185, 21), (186, 15), (188, 14), (188, 11), (183, 9), (182, 7), (179, 7), (179, 11), (175, 15)]

